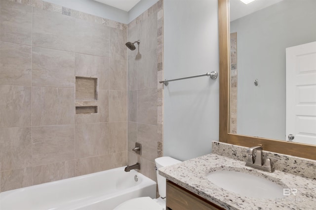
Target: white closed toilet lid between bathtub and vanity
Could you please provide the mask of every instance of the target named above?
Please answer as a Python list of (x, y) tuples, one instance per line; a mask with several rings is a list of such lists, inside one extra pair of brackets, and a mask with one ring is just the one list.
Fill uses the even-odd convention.
[(125, 201), (114, 210), (164, 210), (164, 208), (150, 197), (140, 197)]

